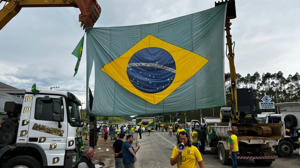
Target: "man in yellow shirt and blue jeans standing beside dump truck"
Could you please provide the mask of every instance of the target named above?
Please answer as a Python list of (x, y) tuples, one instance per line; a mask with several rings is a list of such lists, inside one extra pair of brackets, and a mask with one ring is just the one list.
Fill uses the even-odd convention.
[(236, 155), (238, 155), (238, 137), (232, 134), (232, 130), (228, 129), (227, 134), (229, 135), (228, 138), (228, 147), (229, 147), (229, 156), (232, 159), (232, 168), (237, 168), (238, 163), (236, 162)]

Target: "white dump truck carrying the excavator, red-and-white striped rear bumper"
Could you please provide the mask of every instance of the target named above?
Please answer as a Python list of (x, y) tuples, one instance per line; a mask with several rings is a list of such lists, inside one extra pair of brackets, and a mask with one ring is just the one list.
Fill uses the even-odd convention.
[[(214, 129), (214, 138), (211, 139), (207, 136), (207, 141), (211, 147), (212, 153), (217, 153), (221, 164), (229, 164), (231, 156), (229, 156), (229, 146), (227, 130), (232, 129), (238, 138), (238, 156), (237, 159), (253, 159), (258, 165), (271, 165), (278, 157), (270, 142), (280, 140), (283, 138), (283, 123), (270, 123), (263, 124), (272, 130), (270, 137), (262, 137), (253, 132), (250, 135), (239, 135), (235, 131), (236, 127), (231, 123), (221, 123), (220, 118), (203, 118), (205, 125), (209, 125)], [(191, 121), (191, 127), (194, 125), (201, 125), (198, 120)], [(262, 126), (256, 124), (257, 126)], [(252, 135), (251, 135), (252, 134)]]

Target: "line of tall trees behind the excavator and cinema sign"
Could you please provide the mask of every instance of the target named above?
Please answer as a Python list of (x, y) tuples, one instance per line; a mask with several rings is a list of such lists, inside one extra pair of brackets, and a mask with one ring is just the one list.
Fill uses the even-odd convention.
[[(222, 107), (230, 107), (230, 73), (225, 73), (224, 76), (226, 105)], [(263, 73), (262, 76), (260, 76), (258, 72), (255, 72), (253, 75), (247, 74), (245, 77), (242, 77), (240, 74), (236, 74), (236, 80), (237, 88), (254, 88), (256, 90), (256, 107), (258, 109), (258, 114), (261, 112), (277, 112), (277, 109), (259, 109), (259, 99), (265, 95), (271, 97), (274, 103), (300, 102), (300, 75), (298, 72), (296, 72), (295, 75), (290, 74), (288, 77), (284, 77), (281, 71), (274, 74), (269, 72)], [(136, 117), (156, 117), (156, 122), (161, 121), (164, 123), (170, 123), (170, 119), (172, 123), (177, 119), (180, 119), (178, 121), (179, 123), (185, 123), (185, 118), (187, 122), (190, 122), (192, 119), (200, 120), (201, 114), (202, 117), (220, 117), (220, 108), (221, 107), (183, 112), (146, 114), (138, 115)]]

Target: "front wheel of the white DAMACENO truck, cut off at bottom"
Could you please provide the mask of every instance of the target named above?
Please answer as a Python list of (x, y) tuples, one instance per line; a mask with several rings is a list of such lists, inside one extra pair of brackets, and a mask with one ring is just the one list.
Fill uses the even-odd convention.
[(41, 163), (32, 156), (17, 156), (7, 161), (3, 168), (42, 168)]

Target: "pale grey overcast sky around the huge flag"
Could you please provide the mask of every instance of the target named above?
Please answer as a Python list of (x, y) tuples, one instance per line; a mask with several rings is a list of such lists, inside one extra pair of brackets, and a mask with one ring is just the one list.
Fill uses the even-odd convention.
[[(214, 7), (213, 0), (98, 0), (98, 3), (102, 12), (94, 27), (161, 22)], [(237, 18), (231, 20), (231, 34), (235, 41), (236, 73), (246, 76), (256, 71), (260, 75), (282, 71), (285, 77), (299, 73), (298, 1), (237, 0), (235, 3)], [(4, 2), (0, 8), (3, 6)], [(85, 33), (78, 22), (79, 14), (74, 7), (22, 8), (0, 30), (0, 81), (16, 88), (31, 88), (34, 82), (39, 89), (59, 86), (60, 90), (72, 90), (85, 103), (86, 39), (75, 77), (77, 58), (71, 54)], [(33, 80), (8, 74), (8, 70)], [(225, 58), (227, 72), (229, 63)], [(90, 87), (93, 91), (94, 74)]]

